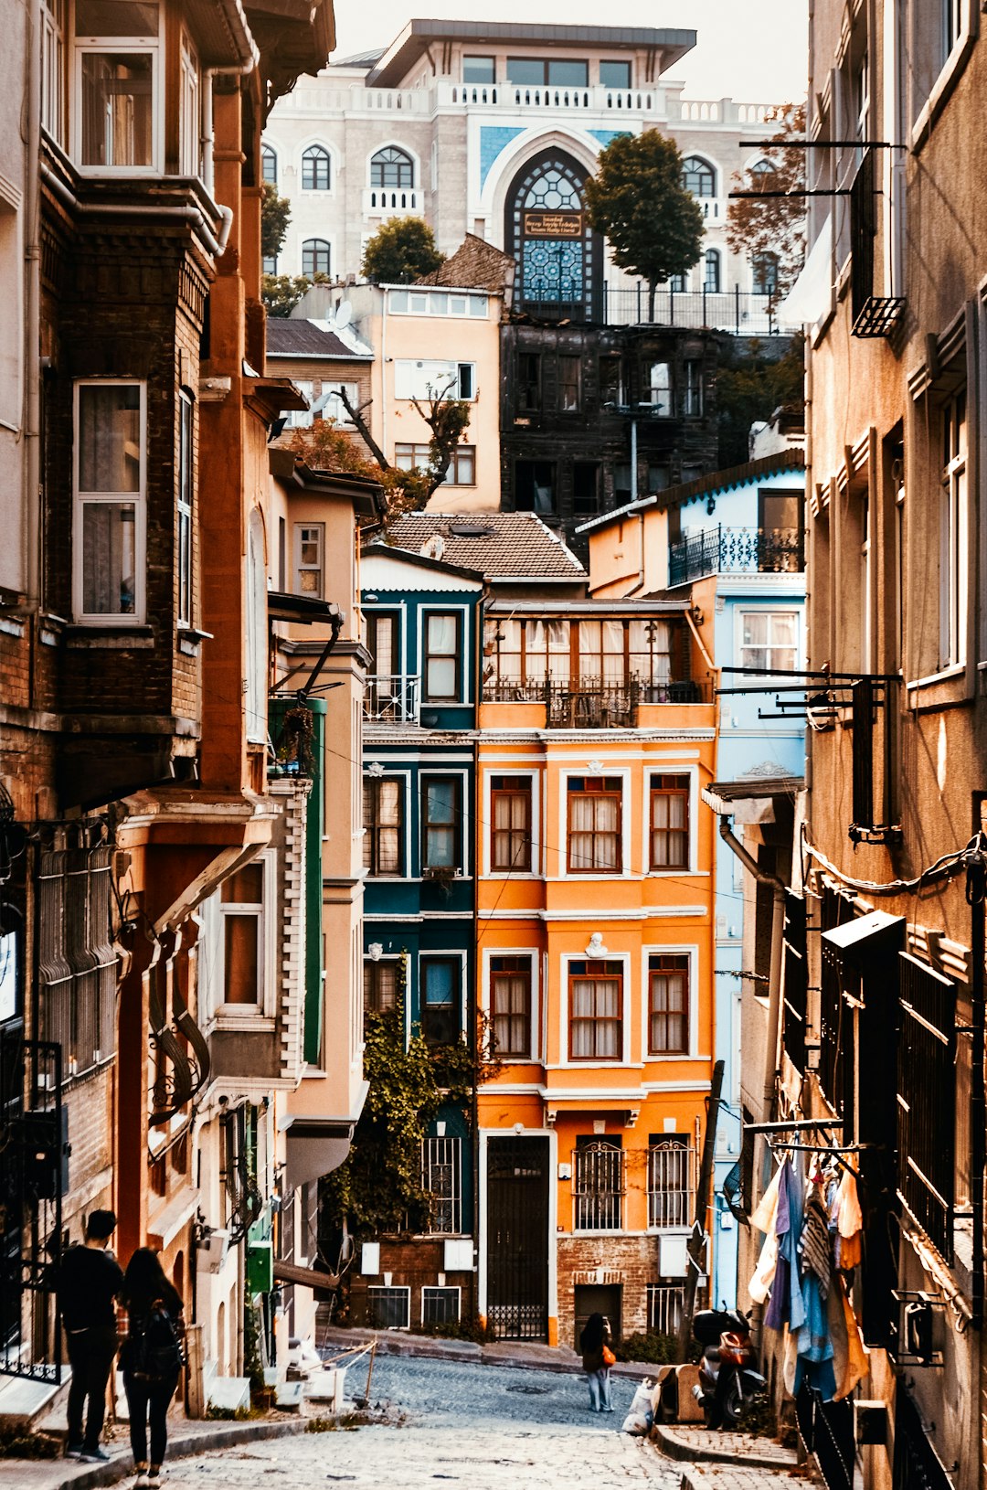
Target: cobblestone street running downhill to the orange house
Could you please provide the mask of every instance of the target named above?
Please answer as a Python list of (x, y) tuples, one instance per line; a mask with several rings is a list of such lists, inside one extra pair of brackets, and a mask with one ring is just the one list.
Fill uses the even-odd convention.
[[(347, 1383), (362, 1390), (362, 1368)], [(585, 1381), (546, 1371), (383, 1359), (372, 1399), (389, 1402), (402, 1426), (362, 1426), (250, 1444), (170, 1466), (168, 1490), (277, 1487), (353, 1490), (396, 1484), (406, 1490), (459, 1483), (472, 1490), (555, 1490), (624, 1486), (677, 1490), (682, 1466), (619, 1432), (633, 1384), (613, 1383), (615, 1411), (595, 1417)]]

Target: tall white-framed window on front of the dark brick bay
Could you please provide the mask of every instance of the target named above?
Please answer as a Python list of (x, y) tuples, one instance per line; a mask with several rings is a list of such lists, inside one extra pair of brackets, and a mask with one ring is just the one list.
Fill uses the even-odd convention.
[(74, 617), (143, 621), (146, 384), (76, 383)]

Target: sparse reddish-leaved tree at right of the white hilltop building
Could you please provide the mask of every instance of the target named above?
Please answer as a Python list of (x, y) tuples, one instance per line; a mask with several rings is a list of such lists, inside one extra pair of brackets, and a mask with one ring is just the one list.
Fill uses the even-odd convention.
[[(774, 255), (777, 292), (786, 294), (805, 261), (805, 150), (785, 149), (789, 140), (805, 139), (805, 104), (783, 103), (768, 109), (765, 124), (777, 124), (755, 164), (734, 176), (734, 186), (753, 192), (790, 192), (783, 197), (740, 197), (726, 210), (726, 243), (750, 259)], [(767, 137), (767, 136), (765, 136)]]

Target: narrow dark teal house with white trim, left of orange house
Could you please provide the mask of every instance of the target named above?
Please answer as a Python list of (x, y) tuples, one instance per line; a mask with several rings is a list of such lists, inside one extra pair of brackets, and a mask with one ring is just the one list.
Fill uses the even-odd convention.
[[(427, 545), (426, 545), (427, 547)], [(438, 545), (432, 545), (438, 553)], [(360, 562), (363, 641), (363, 1007), (403, 1009), (432, 1046), (472, 1039), (472, 803), (482, 577), (375, 544)], [(472, 1141), (448, 1107), (427, 1131), (424, 1234), (362, 1247), (354, 1322), (420, 1328), (475, 1314)]]

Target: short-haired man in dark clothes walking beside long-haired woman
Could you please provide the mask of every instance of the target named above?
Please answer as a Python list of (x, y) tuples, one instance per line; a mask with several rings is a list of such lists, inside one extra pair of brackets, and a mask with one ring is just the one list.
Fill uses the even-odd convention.
[[(68, 1387), (70, 1459), (98, 1465), (110, 1456), (100, 1445), (106, 1414), (106, 1383), (116, 1356), (116, 1310), (124, 1274), (110, 1252), (116, 1231), (113, 1211), (89, 1211), (85, 1243), (70, 1247), (58, 1268), (58, 1310), (66, 1328), (71, 1386)], [(89, 1399), (89, 1410), (82, 1417)]]

